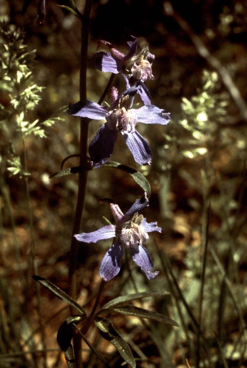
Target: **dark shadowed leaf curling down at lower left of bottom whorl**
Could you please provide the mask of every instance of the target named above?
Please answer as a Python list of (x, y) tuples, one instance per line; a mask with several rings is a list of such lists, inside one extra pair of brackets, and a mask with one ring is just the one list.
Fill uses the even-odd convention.
[(57, 343), (64, 353), (68, 368), (75, 368), (75, 355), (71, 344), (74, 325), (78, 325), (85, 317), (72, 316), (64, 321), (57, 332)]

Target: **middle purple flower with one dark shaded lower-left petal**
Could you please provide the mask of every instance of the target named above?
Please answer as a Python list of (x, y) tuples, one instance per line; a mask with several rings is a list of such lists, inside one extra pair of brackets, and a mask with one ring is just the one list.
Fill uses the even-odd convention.
[(137, 163), (141, 165), (151, 163), (151, 148), (135, 130), (136, 123), (139, 121), (144, 124), (164, 125), (169, 122), (170, 114), (164, 113), (164, 110), (154, 105), (132, 109), (133, 96), (136, 91), (137, 87), (131, 87), (117, 97), (118, 91), (112, 87), (113, 102), (110, 107), (102, 107), (88, 100), (69, 105), (68, 113), (71, 115), (106, 120), (89, 145), (89, 155), (94, 167), (100, 167), (110, 158), (118, 132), (121, 132)]

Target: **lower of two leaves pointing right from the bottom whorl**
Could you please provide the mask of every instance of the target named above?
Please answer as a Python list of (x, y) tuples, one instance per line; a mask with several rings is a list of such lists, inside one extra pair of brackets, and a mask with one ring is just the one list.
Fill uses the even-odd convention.
[[(154, 319), (161, 323), (168, 323), (169, 325), (179, 326), (173, 319), (164, 316), (163, 314), (149, 311), (147, 309), (136, 307), (135, 305), (119, 305), (118, 307), (107, 308), (105, 311), (124, 314), (126, 316), (137, 316), (142, 318)], [(102, 312), (102, 310), (101, 310)]]

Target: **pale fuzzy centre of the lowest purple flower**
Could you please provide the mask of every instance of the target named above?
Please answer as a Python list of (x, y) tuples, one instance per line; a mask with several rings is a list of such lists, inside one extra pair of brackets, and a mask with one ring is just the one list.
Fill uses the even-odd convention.
[(121, 225), (118, 236), (127, 247), (132, 247), (136, 243), (142, 244), (147, 240), (148, 234), (141, 226), (143, 219), (143, 215), (135, 213), (131, 220)]

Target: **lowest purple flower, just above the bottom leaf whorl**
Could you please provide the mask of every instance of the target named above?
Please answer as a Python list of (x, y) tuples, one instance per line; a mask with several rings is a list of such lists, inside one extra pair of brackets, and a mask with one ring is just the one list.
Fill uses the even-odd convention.
[(117, 204), (110, 203), (116, 225), (106, 225), (92, 233), (75, 235), (77, 240), (84, 243), (96, 243), (99, 240), (115, 237), (112, 247), (106, 252), (100, 265), (100, 277), (105, 281), (111, 280), (118, 274), (120, 261), (126, 248), (128, 248), (133, 261), (145, 272), (148, 280), (158, 275), (158, 271), (152, 272), (153, 261), (142, 245), (148, 239), (147, 233), (151, 231), (161, 233), (161, 228), (157, 226), (157, 222), (147, 223), (146, 219), (139, 214), (147, 206), (146, 193), (142, 198), (137, 199), (125, 215)]

